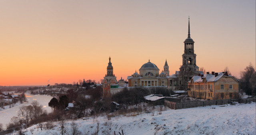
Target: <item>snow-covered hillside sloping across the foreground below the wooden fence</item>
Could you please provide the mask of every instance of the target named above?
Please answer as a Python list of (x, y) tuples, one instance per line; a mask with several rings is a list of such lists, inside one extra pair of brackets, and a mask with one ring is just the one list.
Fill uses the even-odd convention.
[[(144, 113), (136, 116), (116, 116), (108, 120), (106, 116), (88, 120), (76, 120), (79, 130), (83, 135), (91, 135), (96, 131), (97, 121), (99, 124), (98, 135), (110, 131), (111, 135), (121, 132), (124, 135), (236, 135), (256, 134), (256, 103), (236, 105), (212, 105), (187, 109), (167, 109), (158, 114), (158, 111)], [(112, 121), (111, 130), (104, 126), (106, 121)], [(68, 129), (71, 121), (68, 121)], [(51, 130), (38, 129), (34, 125), (24, 129), (26, 135), (52, 135), (60, 134), (60, 126), (54, 123)], [(70, 133), (68, 133), (70, 134)]]

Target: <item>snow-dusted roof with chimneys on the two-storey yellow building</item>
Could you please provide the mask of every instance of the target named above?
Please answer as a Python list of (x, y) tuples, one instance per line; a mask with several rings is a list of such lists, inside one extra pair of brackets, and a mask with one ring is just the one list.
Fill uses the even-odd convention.
[[(206, 78), (206, 81), (218, 81), (218, 79), (220, 79), (223, 75), (224, 73), (219, 72), (218, 75), (215, 77), (215, 75), (212, 75), (209, 73), (209, 74), (204, 74), (203, 77), (195, 75), (194, 77), (192, 77), (192, 79), (194, 82), (202, 82), (203, 78)], [(228, 76), (232, 77), (231, 75), (228, 75)]]

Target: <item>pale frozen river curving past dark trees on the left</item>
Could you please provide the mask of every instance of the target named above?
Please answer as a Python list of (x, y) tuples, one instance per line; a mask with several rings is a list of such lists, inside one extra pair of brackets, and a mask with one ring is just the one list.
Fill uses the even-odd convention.
[(44, 109), (46, 109), (46, 111), (48, 113), (50, 113), (52, 111), (51, 107), (48, 106), (48, 103), (52, 99), (51, 96), (30, 95), (30, 94), (26, 93), (26, 97), (28, 99), (28, 102), (25, 102), (20, 105), (14, 106), (12, 108), (4, 109), (4, 110), (0, 111), (0, 123), (2, 123), (4, 126), (6, 124), (8, 124), (12, 117), (18, 115), (19, 107), (21, 107), (22, 105), (25, 105), (25, 106), (30, 105), (32, 101), (38, 101), (40, 103), (40, 105), (43, 105)]

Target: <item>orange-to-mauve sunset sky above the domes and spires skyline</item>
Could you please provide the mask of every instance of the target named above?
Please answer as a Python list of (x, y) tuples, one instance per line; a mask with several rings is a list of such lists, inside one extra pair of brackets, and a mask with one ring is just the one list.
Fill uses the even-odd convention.
[(196, 65), (240, 77), (256, 63), (255, 0), (0, 0), (0, 85), (127, 79), (148, 62), (179, 70), (184, 40)]

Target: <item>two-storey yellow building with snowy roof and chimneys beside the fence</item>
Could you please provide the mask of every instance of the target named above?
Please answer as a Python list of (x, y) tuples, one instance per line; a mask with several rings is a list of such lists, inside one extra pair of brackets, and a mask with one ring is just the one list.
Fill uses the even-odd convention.
[(238, 80), (227, 72), (198, 74), (188, 81), (188, 96), (201, 99), (238, 98)]

